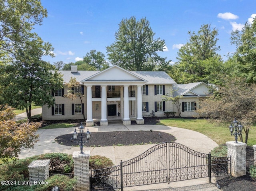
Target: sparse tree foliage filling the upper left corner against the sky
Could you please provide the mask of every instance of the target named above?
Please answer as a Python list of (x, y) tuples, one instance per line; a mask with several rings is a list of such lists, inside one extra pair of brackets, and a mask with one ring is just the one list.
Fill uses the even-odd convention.
[(28, 39), (32, 27), (47, 17), (38, 0), (0, 0), (0, 12), (0, 51), (8, 53)]

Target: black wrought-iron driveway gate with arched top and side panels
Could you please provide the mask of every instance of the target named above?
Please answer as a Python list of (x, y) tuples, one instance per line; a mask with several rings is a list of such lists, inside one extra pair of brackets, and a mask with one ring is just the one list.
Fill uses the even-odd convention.
[(95, 187), (123, 187), (169, 183), (188, 179), (228, 175), (230, 157), (212, 157), (182, 144), (164, 142), (120, 165), (91, 170)]

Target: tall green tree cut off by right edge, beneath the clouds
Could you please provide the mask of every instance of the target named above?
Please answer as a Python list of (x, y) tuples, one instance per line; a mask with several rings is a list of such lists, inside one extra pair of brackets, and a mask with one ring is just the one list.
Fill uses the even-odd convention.
[(236, 45), (234, 58), (238, 62), (240, 76), (248, 83), (256, 83), (256, 22), (246, 22), (242, 31), (231, 33), (231, 44)]

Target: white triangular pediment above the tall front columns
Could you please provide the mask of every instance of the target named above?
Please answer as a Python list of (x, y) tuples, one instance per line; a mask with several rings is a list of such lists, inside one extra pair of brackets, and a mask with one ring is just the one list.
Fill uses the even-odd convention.
[(134, 73), (131, 73), (121, 67), (114, 65), (106, 70), (96, 73), (84, 80), (86, 81), (145, 81), (145, 79), (138, 77)]

